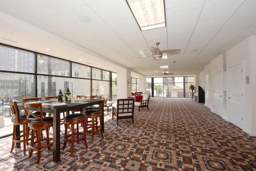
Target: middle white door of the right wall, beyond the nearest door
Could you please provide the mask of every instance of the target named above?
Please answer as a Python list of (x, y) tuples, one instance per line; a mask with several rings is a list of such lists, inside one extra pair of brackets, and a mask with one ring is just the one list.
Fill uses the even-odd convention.
[(222, 116), (222, 70), (213, 72), (214, 80), (214, 113)]

